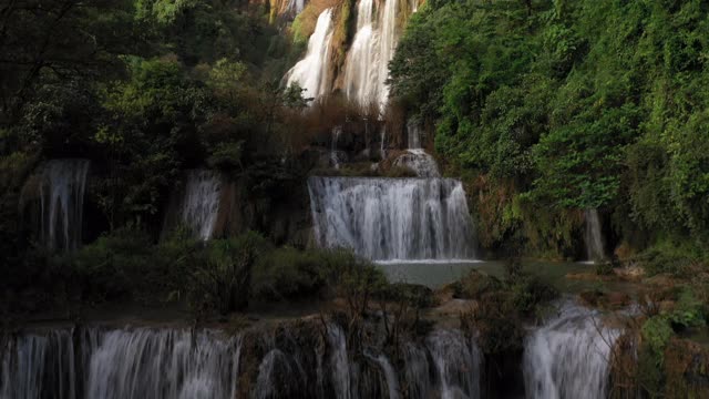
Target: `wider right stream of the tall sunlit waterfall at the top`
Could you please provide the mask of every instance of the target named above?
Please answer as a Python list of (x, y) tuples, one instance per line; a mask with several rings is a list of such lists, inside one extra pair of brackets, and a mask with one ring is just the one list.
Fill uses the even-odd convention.
[(387, 104), (384, 82), (397, 48), (398, 6), (399, 0), (384, 0), (380, 16), (373, 12), (373, 0), (360, 0), (357, 6), (357, 33), (346, 63), (345, 92), (360, 105), (376, 103), (381, 109)]

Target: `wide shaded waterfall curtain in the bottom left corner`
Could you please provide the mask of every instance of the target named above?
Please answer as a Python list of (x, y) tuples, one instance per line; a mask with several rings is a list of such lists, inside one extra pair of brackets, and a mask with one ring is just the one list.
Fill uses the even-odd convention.
[(213, 331), (20, 335), (0, 350), (0, 398), (229, 399), (237, 392), (240, 338)]

